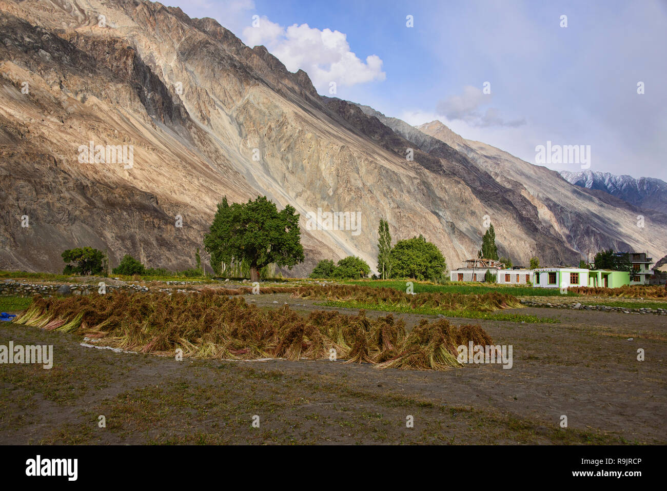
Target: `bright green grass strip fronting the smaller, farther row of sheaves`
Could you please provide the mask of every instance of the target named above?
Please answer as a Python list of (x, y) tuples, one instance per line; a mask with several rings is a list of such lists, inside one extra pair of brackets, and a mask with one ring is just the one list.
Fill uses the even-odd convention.
[(316, 302), (322, 305), (336, 308), (351, 308), (364, 310), (380, 310), (381, 312), (400, 312), (402, 314), (422, 314), (424, 316), (437, 316), (442, 314), (446, 317), (458, 317), (464, 319), (503, 320), (508, 322), (529, 322), (532, 324), (559, 324), (558, 319), (550, 317), (528, 316), (524, 314), (505, 314), (503, 312), (480, 312), (477, 310), (445, 310), (430, 307), (394, 306), (388, 304), (371, 304), (356, 302), (355, 300), (328, 300), (327, 302)]

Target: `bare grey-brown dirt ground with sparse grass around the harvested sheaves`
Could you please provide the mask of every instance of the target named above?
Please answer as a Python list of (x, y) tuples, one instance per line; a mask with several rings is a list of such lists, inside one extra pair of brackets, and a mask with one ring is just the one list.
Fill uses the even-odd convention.
[[(245, 298), (263, 308), (287, 302), (303, 314), (325, 308), (287, 294)], [(53, 344), (55, 361), (51, 370), (0, 366), (0, 444), (667, 442), (666, 316), (516, 312), (560, 324), (452, 319), (479, 322), (496, 344), (512, 345), (513, 366), (446, 372), (340, 360), (177, 362), (85, 348), (72, 334), (3, 322), (0, 345)], [(394, 316), (408, 326), (433, 318)]]

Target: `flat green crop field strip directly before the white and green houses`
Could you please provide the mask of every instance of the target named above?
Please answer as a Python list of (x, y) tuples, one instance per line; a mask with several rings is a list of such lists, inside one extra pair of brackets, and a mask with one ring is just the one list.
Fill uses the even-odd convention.
[[(375, 288), (394, 288), (401, 292), (406, 291), (407, 280), (358, 280), (344, 282), (348, 285), (363, 285), (372, 286)], [(560, 290), (556, 288), (532, 288), (532, 286), (504, 286), (498, 284), (473, 284), (473, 283), (446, 283), (444, 285), (436, 285), (432, 283), (422, 283), (412, 280), (414, 284), (414, 292), (420, 293), (452, 293), (452, 294), (488, 294), (490, 292), (499, 292), (502, 294), (510, 294), (515, 297), (556, 297), (561, 296)], [(578, 297), (574, 292), (568, 292), (563, 296)]]

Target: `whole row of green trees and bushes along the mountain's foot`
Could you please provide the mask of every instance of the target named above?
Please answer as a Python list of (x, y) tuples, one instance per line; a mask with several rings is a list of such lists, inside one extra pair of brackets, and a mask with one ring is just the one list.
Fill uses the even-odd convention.
[[(303, 246), (299, 229), (299, 214), (291, 205), (281, 211), (266, 196), (257, 196), (247, 203), (227, 202), (224, 197), (217, 205), (215, 217), (209, 232), (204, 236), (204, 248), (211, 256), (211, 267), (216, 274), (232, 273), (243, 276), (248, 272), (255, 281), (259, 274), (275, 272), (276, 267), (303, 262)], [(67, 250), (62, 254), (67, 264), (65, 274), (102, 274), (107, 272), (108, 259), (105, 253), (90, 247)], [(199, 249), (195, 256), (197, 268), (190, 276), (203, 274)], [(510, 258), (498, 258), (496, 232), (489, 225), (482, 237), (482, 248), (478, 258), (500, 260), (507, 268), (512, 268)], [(616, 254), (613, 250), (598, 252), (595, 267), (618, 271), (631, 271), (628, 254)], [(584, 265), (584, 266), (582, 266)], [(585, 262), (580, 266), (586, 267)], [(530, 268), (540, 267), (540, 260), (532, 258)], [(590, 265), (588, 265), (590, 267)], [(438, 247), (426, 241), (422, 235), (398, 241), (392, 246), (389, 223), (380, 219), (378, 227), (378, 272), (380, 278), (414, 278), (416, 280), (440, 280), (447, 268), (446, 260)], [(141, 262), (129, 254), (113, 268), (114, 274), (143, 275), (169, 274), (166, 270), (147, 270)], [(370, 266), (356, 256), (348, 256), (334, 264), (331, 260), (320, 261), (311, 273), (312, 278), (366, 278)], [(188, 276), (188, 275), (185, 275)]]

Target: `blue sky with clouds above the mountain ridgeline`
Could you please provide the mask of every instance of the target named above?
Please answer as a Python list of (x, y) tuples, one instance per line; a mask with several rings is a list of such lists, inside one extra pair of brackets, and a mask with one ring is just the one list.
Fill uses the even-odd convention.
[(322, 95), (336, 81), (337, 97), (414, 125), (439, 119), (532, 163), (547, 141), (590, 145), (592, 171), (667, 180), (667, 0), (165, 5), (267, 46)]

